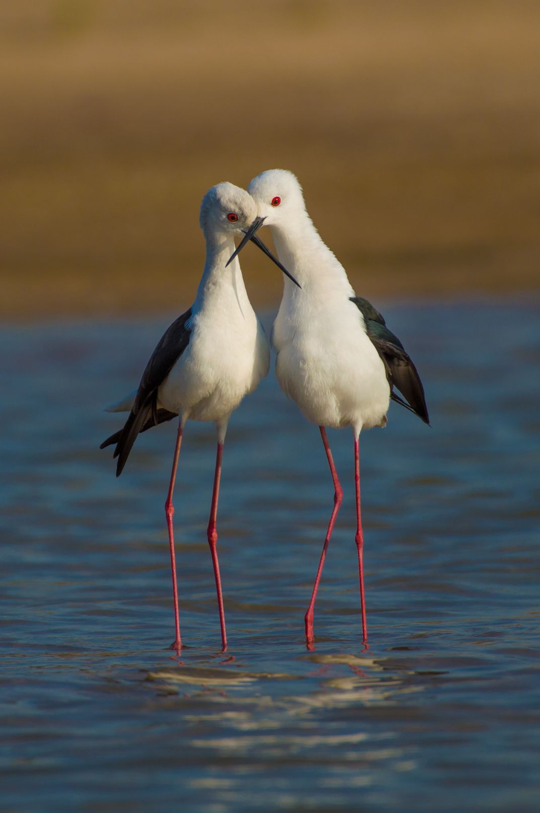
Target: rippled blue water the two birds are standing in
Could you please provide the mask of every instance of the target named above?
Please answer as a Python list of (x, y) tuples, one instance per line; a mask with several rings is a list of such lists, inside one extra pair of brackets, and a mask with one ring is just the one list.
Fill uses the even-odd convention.
[(180, 659), (174, 425), (140, 437), (119, 480), (97, 449), (119, 424), (102, 407), (170, 320), (2, 328), (2, 810), (538, 810), (540, 306), (383, 312), (433, 426), (393, 405), (361, 437), (369, 650), (344, 431), (329, 433), (345, 498), (306, 650), (333, 491), (318, 429), (270, 373), (225, 447), (227, 654), (205, 540), (214, 428), (185, 433)]

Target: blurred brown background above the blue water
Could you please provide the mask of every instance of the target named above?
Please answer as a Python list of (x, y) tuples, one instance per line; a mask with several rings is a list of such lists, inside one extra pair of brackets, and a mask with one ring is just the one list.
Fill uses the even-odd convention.
[(271, 167), (358, 293), (538, 288), (539, 32), (538, 0), (2, 0), (0, 315), (188, 305), (205, 189)]

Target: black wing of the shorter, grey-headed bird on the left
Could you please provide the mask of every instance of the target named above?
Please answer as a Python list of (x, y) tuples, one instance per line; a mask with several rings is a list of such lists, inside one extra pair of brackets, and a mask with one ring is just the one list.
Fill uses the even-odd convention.
[(111, 443), (116, 443), (113, 456), (119, 459), (116, 467), (117, 477), (122, 474), (137, 435), (175, 417), (172, 412), (158, 410), (158, 388), (189, 344), (190, 330), (186, 322), (191, 315), (190, 308), (166, 329), (145, 367), (132, 411), (123, 429), (108, 437), (100, 446), (100, 449), (104, 449)]

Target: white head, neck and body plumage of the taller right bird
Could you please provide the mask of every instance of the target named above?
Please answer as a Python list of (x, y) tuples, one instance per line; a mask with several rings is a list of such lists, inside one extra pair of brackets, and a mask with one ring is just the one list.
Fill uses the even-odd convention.
[(274, 322), (279, 385), (313, 424), (351, 426), (356, 437), (362, 428), (384, 426), (390, 403), (384, 363), (350, 300), (355, 294), (345, 269), (313, 226), (296, 177), (262, 172), (248, 191), (271, 228), (279, 259), (301, 285), (284, 280)]

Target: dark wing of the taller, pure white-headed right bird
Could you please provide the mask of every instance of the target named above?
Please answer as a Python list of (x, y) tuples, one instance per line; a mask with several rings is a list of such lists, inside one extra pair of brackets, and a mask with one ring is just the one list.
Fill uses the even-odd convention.
[[(354, 302), (358, 310), (361, 311), (368, 337), (373, 342), (384, 363), (392, 401), (414, 412), (421, 420), (429, 424), (430, 416), (427, 411), (424, 388), (417, 368), (404, 350), (404, 346), (398, 337), (388, 330), (382, 315), (375, 310), (367, 299), (351, 297), (351, 302)], [(393, 392), (394, 387), (400, 390), (400, 393), (406, 399), (405, 401)]]

